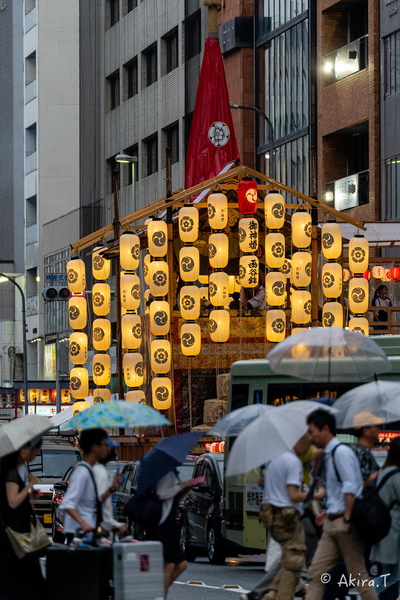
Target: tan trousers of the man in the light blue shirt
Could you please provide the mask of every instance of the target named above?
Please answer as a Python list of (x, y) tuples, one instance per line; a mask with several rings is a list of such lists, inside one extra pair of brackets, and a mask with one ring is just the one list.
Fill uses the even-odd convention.
[[(321, 577), (328, 574), (340, 558), (344, 560), (352, 585), (357, 587), (362, 600), (377, 600), (374, 587), (368, 586), (371, 578), (366, 571), (362, 541), (353, 527), (347, 531), (341, 517), (324, 523), (323, 534), (308, 571), (306, 600), (322, 600), (327, 581), (321, 581)], [(357, 581), (360, 582), (359, 586), (356, 585)]]

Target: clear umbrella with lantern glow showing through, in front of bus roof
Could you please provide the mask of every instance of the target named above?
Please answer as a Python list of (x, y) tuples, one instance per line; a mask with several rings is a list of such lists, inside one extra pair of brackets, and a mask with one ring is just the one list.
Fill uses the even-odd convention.
[(291, 335), (267, 359), (277, 373), (314, 382), (365, 381), (392, 369), (374, 340), (339, 327), (312, 327)]

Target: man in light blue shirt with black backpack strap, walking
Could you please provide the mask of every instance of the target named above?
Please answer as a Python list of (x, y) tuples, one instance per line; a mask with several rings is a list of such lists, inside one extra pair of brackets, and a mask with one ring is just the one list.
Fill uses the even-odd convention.
[(308, 416), (307, 422), (311, 442), (324, 448), (326, 512), (318, 517), (318, 524), (323, 523), (323, 534), (308, 571), (306, 600), (322, 600), (325, 575), (341, 558), (353, 584), (360, 582), (357, 587), (362, 600), (377, 600), (374, 587), (369, 586), (363, 544), (350, 525), (354, 502), (363, 490), (359, 461), (353, 450), (336, 438), (333, 415), (318, 409)]

